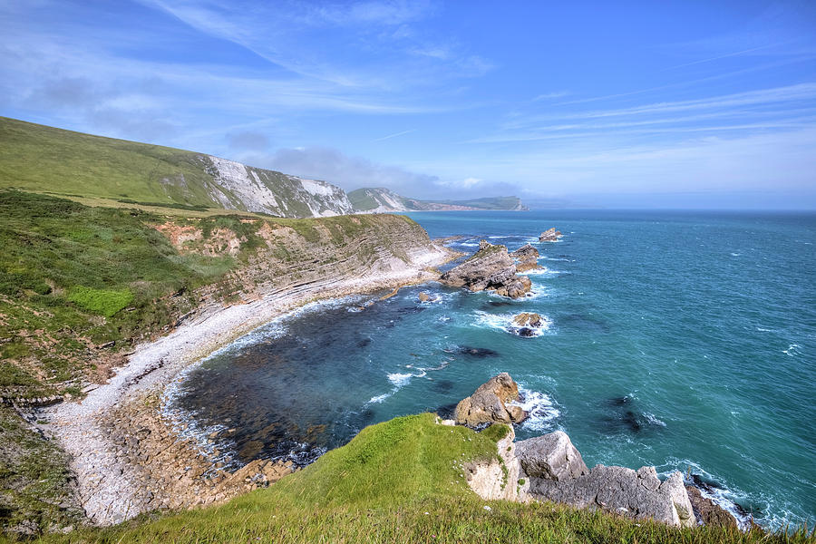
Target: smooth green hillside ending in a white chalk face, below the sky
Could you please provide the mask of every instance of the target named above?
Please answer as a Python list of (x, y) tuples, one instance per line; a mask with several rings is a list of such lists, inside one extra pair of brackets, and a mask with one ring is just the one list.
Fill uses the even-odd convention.
[(282, 218), (353, 213), (343, 189), (194, 151), (0, 117), (0, 189), (112, 204), (251, 211)]

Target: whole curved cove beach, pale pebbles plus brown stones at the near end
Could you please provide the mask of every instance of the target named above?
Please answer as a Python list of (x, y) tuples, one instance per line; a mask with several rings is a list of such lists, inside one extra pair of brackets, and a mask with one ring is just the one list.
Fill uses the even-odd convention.
[[(374, 272), (376, 267), (372, 266), (358, 276), (349, 274), (274, 289), (244, 304), (204, 306), (169, 335), (137, 345), (127, 364), (118, 368), (107, 384), (88, 391), (83, 400), (42, 409), (40, 413), (48, 423), (41, 427), (71, 457), (76, 496), (87, 518), (96, 525), (112, 525), (144, 511), (211, 504), (254, 489), (252, 485), (257, 487), (252, 474), (249, 480), (255, 483), (249, 482), (248, 486), (243, 485), (243, 479), (232, 482), (237, 484), (230, 488), (235, 492), (219, 487), (224, 478), (213, 479), (212, 474), (200, 470), (206, 461), (199, 452), (184, 455), (192, 444), (180, 440), (169, 428), (170, 422), (162, 419), (160, 406), (152, 399), (190, 364), (309, 302), (438, 278), (432, 267), (449, 262), (457, 254), (442, 246), (433, 248), (436, 250), (414, 254), (411, 264), (401, 269)], [(157, 474), (172, 469), (165, 466), (166, 461), (175, 461), (180, 454), (188, 464), (180, 467), (184, 472), (178, 479)], [(172, 490), (158, 489), (162, 480), (165, 487), (169, 481), (189, 485), (190, 481), (183, 481), (185, 474), (195, 484), (192, 494), (197, 499), (172, 500)], [(146, 483), (157, 489), (144, 489)], [(214, 494), (208, 496), (208, 491)]]

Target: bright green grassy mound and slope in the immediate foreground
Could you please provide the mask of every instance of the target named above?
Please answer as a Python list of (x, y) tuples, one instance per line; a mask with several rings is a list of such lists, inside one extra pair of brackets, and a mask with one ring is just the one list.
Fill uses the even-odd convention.
[[(477, 433), (430, 413), (364, 429), (304, 471), (225, 506), (111, 529), (81, 529), (43, 542), (806, 542), (759, 530), (673, 529), (552, 504), (479, 499), (469, 461), (496, 458), (506, 428)], [(515, 482), (508, 482), (513, 485)], [(485, 508), (489, 507), (489, 508)]]

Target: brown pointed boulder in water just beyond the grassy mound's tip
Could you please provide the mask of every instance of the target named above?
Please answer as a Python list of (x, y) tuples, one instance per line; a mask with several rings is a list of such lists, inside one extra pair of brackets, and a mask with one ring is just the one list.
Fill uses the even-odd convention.
[(456, 405), (453, 418), (456, 423), (476, 427), (484, 423), (520, 423), (527, 413), (520, 406), (508, 403), (519, 398), (519, 385), (503, 372)]

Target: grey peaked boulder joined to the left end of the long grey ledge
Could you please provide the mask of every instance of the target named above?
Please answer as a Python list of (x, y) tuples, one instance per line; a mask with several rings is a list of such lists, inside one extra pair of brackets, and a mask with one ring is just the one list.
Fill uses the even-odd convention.
[(580, 452), (563, 431), (517, 442), (516, 454), (528, 476), (567, 481), (589, 473)]

